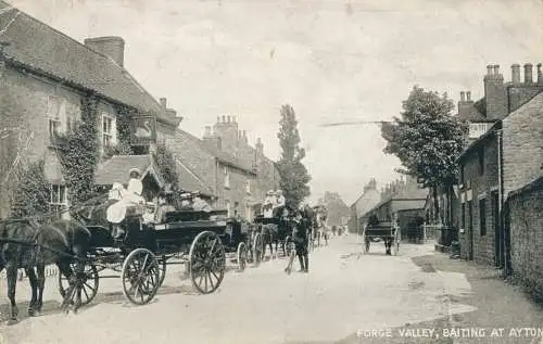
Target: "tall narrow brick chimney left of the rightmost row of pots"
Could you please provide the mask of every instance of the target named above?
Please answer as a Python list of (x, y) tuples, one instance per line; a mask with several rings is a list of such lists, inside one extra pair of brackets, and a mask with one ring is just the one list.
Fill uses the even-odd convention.
[(498, 65), (488, 65), (484, 76), (484, 101), (487, 103), (487, 118), (503, 119), (507, 115), (507, 93), (504, 77), (500, 74)]

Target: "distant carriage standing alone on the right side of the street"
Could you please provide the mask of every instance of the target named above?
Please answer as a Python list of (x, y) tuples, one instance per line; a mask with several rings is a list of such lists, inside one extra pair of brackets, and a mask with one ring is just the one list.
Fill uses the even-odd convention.
[(364, 253), (369, 252), (371, 242), (383, 241), (386, 254), (397, 255), (400, 251), (400, 228), (395, 221), (375, 221), (364, 229), (362, 234), (364, 241)]

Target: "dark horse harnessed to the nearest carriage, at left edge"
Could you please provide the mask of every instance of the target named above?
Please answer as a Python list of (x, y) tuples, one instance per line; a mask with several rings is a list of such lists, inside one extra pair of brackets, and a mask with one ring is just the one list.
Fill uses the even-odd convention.
[[(80, 306), (80, 290), (77, 292), (76, 276), (83, 272), (90, 232), (75, 220), (56, 219), (40, 225), (35, 219), (8, 219), (0, 221), (0, 271), (4, 268), (8, 277), (8, 298), (10, 300), (10, 322), (16, 322), (18, 309), (15, 303), (17, 270), (26, 270), (31, 288), (28, 315), (41, 313), (45, 288), (45, 268), (55, 264), (59, 271), (70, 281), (62, 308), (65, 311)], [(76, 263), (76, 271), (71, 264)], [(35, 271), (36, 269), (36, 271)], [(75, 295), (74, 295), (75, 294)], [(72, 302), (75, 298), (75, 302)]]

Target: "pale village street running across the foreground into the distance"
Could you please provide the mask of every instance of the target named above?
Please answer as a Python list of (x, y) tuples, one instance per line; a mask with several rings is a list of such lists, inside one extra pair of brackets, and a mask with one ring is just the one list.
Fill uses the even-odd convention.
[[(308, 275), (287, 276), (285, 259), (230, 270), (211, 295), (193, 294), (179, 268), (171, 269), (155, 301), (140, 307), (128, 305), (118, 280), (102, 280), (101, 294), (78, 315), (58, 311), (50, 278), (46, 315), (2, 324), (1, 343), (535, 343), (521, 331), (509, 336), (510, 328), (541, 329), (543, 311), (495, 270), (452, 260), (431, 244), (403, 244), (399, 256), (386, 256), (382, 243), (363, 255), (358, 242), (351, 234), (317, 249)], [(24, 310), (27, 281), (18, 285)], [(4, 279), (0, 290), (5, 314)], [(453, 327), (488, 332), (444, 339)], [(493, 328), (505, 329), (502, 339), (490, 337)]]

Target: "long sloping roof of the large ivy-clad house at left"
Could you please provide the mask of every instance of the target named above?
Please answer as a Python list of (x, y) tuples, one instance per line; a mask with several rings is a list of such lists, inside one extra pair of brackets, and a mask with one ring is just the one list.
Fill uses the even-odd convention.
[[(12, 9), (12, 10), (9, 10)], [(161, 122), (178, 123), (136, 79), (109, 56), (0, 0), (0, 41), (8, 63), (94, 91), (113, 102), (152, 112)]]

